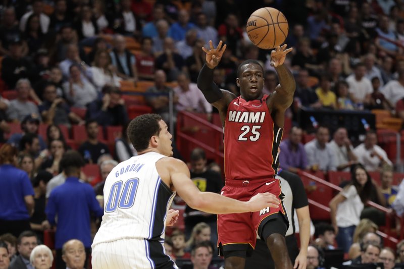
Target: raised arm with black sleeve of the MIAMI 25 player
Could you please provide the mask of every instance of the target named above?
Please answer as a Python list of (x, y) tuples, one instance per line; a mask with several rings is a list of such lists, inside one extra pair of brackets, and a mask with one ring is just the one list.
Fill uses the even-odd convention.
[[(218, 66), (222, 59), (223, 52), (226, 50), (226, 45), (222, 46), (223, 42), (220, 41), (218, 46), (214, 48), (212, 40), (209, 41), (209, 44), (210, 49), (202, 47), (202, 50), (206, 52), (206, 64), (199, 71), (197, 85), (208, 102), (216, 107), (220, 107), (222, 103), (221, 100), (224, 99), (223, 91), (219, 89), (215, 82), (213, 82), (213, 70)], [(223, 101), (223, 104), (227, 103)]]

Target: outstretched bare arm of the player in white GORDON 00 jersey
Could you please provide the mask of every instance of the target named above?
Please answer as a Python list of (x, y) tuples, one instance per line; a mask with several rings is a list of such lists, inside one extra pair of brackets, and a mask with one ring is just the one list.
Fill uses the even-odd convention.
[(259, 193), (249, 201), (238, 201), (213, 192), (201, 192), (189, 178), (188, 167), (181, 160), (170, 158), (171, 182), (181, 198), (192, 208), (212, 213), (254, 212), (266, 207), (278, 207), (279, 199), (272, 193)]

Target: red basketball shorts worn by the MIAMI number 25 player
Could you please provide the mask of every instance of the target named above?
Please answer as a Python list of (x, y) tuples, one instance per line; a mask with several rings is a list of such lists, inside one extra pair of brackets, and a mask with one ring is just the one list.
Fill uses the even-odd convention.
[[(283, 194), (279, 179), (265, 180), (226, 180), (221, 194), (248, 201), (257, 193), (270, 192), (280, 199)], [(285, 214), (285, 208), (280, 203), (278, 207), (266, 207), (257, 212), (231, 213), (218, 215), (218, 246), (222, 250), (251, 250), (255, 248), (260, 225), (277, 218), (277, 213)]]

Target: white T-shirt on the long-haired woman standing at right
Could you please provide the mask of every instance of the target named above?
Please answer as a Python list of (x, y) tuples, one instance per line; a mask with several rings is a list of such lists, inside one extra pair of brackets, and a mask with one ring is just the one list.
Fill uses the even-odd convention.
[(357, 226), (361, 221), (361, 212), (364, 208), (357, 188), (351, 185), (348, 188), (344, 188), (340, 193), (346, 200), (338, 204), (336, 213), (337, 226), (342, 228), (352, 225)]

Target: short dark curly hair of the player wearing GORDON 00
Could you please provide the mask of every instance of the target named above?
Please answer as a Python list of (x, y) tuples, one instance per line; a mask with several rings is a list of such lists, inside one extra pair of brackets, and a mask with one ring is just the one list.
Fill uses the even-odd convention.
[(159, 135), (162, 120), (157, 114), (143, 114), (134, 118), (128, 126), (127, 135), (133, 147), (139, 152), (148, 147), (150, 138)]

